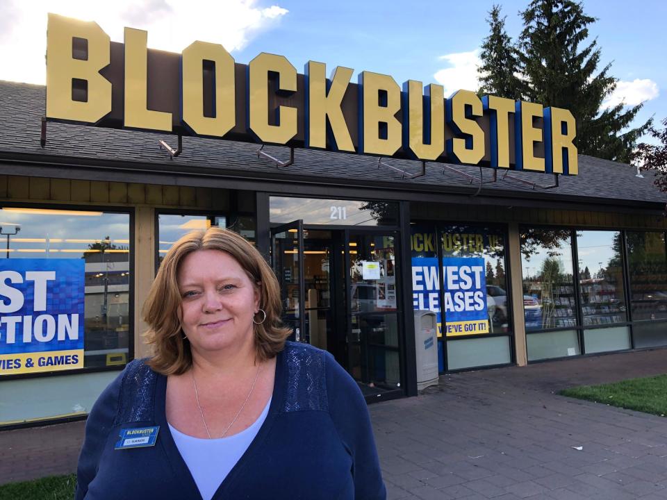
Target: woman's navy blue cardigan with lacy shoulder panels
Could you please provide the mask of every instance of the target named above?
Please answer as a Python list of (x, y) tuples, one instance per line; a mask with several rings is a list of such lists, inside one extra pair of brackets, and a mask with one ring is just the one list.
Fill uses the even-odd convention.
[[(75, 500), (201, 499), (165, 415), (167, 378), (129, 363), (85, 425)], [(114, 449), (126, 428), (160, 426), (153, 447)], [(333, 356), (288, 342), (273, 399), (250, 447), (213, 499), (385, 499), (368, 408)]]

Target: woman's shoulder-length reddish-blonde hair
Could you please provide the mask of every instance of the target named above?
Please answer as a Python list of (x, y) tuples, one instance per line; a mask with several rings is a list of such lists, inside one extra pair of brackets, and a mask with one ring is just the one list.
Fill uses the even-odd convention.
[(292, 333), (280, 319), (280, 287), (276, 276), (261, 253), (245, 238), (227, 229), (211, 227), (183, 236), (174, 243), (160, 264), (142, 309), (143, 319), (149, 326), (145, 338), (154, 349), (154, 355), (148, 361), (150, 367), (163, 375), (178, 375), (192, 365), (190, 341), (183, 338), (179, 319), (181, 293), (177, 275), (183, 258), (197, 250), (228, 253), (256, 284), (259, 307), (266, 313), (262, 324), (253, 324), (257, 357), (267, 360), (276, 356)]

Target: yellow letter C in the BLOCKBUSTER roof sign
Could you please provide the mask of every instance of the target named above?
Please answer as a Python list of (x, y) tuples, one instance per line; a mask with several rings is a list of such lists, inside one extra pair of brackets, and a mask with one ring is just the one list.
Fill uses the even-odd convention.
[(261, 142), (286, 144), (297, 135), (297, 108), (279, 106), (278, 124), (269, 124), (270, 72), (278, 74), (279, 90), (297, 90), (297, 69), (284, 56), (259, 54), (248, 65), (248, 128)]

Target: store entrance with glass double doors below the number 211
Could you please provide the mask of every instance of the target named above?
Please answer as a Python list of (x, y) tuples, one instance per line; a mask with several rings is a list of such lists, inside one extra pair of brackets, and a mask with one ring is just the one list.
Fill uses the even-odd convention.
[(400, 391), (397, 231), (299, 220), (271, 235), (293, 340), (331, 352), (369, 399)]

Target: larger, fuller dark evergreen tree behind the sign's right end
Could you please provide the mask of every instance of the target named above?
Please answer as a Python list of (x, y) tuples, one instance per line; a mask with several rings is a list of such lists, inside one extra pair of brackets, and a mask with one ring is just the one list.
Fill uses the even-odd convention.
[[(611, 63), (598, 69), (602, 53), (597, 40), (586, 41), (595, 17), (586, 15), (582, 3), (573, 0), (532, 0), (520, 15), (524, 27), (515, 46), (518, 64), (507, 67), (505, 78), (518, 70), (523, 99), (573, 113), (579, 153), (630, 163), (637, 140), (652, 120), (628, 129), (643, 104), (602, 108), (618, 80), (609, 75)], [(499, 21), (494, 22), (493, 10), (489, 22), (491, 35), (486, 40), (495, 40)], [(502, 81), (500, 76), (494, 78)]]

